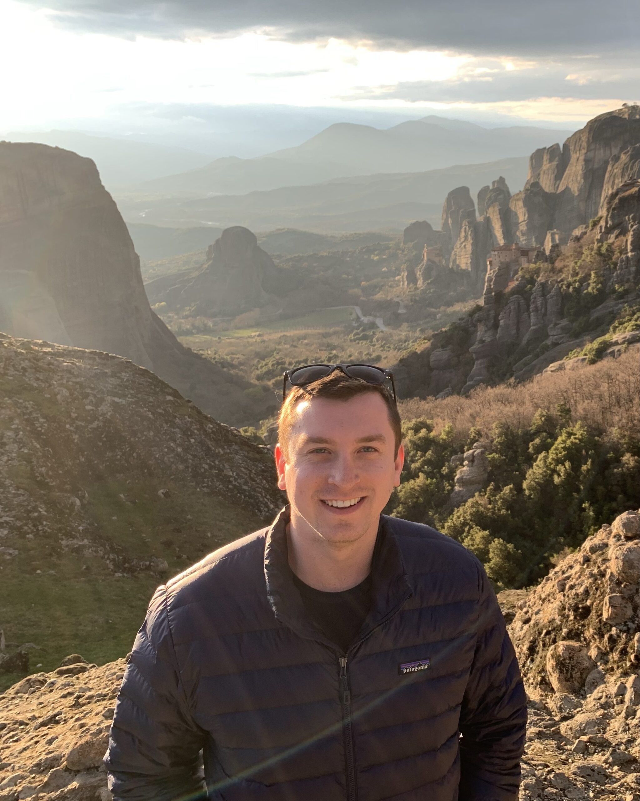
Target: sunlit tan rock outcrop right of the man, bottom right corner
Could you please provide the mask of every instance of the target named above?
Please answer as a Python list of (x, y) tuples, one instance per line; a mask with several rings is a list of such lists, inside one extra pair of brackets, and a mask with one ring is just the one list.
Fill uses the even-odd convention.
[(530, 700), (521, 801), (640, 798), (640, 513), (589, 537), (510, 624)]

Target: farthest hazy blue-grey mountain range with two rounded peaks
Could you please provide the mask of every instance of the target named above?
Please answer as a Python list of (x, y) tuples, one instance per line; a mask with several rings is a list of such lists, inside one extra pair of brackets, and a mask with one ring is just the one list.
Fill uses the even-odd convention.
[(156, 195), (243, 194), (350, 175), (421, 172), (529, 155), (538, 147), (562, 142), (570, 133), (484, 128), (434, 115), (386, 130), (335, 123), (297, 147), (255, 159), (216, 159), (205, 167), (147, 181), (136, 190)]

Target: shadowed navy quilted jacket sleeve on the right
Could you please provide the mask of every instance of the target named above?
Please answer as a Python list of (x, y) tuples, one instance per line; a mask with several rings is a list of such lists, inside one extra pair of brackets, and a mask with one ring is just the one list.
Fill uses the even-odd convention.
[(515, 801), (526, 694), (494, 590), (479, 570), (478, 639), (460, 714), (459, 801)]

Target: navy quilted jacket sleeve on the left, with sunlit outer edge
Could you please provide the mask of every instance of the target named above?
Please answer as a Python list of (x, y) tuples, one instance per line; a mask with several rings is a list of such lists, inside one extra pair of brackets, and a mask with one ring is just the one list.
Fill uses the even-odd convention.
[(115, 706), (104, 760), (114, 801), (204, 798), (203, 740), (182, 688), (161, 586), (138, 631)]

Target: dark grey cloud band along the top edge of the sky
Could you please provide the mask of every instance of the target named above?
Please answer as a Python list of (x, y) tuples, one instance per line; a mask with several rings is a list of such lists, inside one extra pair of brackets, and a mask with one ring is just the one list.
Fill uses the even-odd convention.
[(638, 49), (637, 0), (22, 0), (61, 25), (130, 38), (342, 38), (391, 50), (471, 54), (602, 54)]

